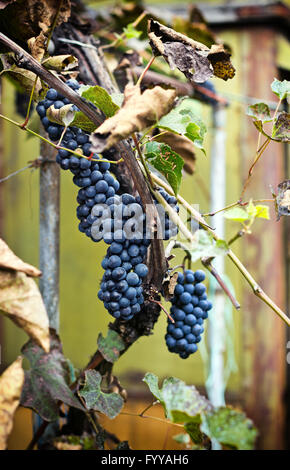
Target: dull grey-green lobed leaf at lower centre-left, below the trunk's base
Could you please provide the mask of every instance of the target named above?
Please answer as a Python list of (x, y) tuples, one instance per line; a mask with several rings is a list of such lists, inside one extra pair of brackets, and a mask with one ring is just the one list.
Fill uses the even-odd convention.
[(102, 376), (95, 370), (85, 372), (85, 385), (79, 392), (89, 410), (100, 411), (109, 418), (115, 418), (121, 411), (124, 400), (118, 393), (104, 393), (101, 390)]

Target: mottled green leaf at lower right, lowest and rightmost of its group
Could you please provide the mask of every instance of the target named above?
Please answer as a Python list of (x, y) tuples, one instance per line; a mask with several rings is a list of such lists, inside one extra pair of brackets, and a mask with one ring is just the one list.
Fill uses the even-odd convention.
[(210, 439), (238, 450), (251, 450), (257, 430), (246, 415), (230, 407), (220, 407), (202, 415), (201, 430)]

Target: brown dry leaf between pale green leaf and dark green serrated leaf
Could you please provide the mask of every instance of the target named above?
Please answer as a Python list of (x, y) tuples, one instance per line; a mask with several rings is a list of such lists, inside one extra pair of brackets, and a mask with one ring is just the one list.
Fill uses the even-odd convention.
[(178, 153), (184, 160), (183, 170), (192, 175), (195, 170), (195, 147), (191, 140), (183, 135), (173, 134), (173, 132), (166, 132), (156, 139), (158, 142), (163, 142), (169, 145), (174, 152)]

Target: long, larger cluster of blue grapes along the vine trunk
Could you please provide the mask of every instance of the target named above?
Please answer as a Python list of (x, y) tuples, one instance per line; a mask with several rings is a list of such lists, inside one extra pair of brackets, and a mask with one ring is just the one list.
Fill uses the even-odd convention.
[[(74, 90), (80, 86), (72, 79), (66, 84)], [(65, 131), (62, 125), (48, 119), (48, 108), (61, 109), (66, 104), (70, 104), (69, 100), (51, 88), (36, 109), (50, 140), (59, 141), (62, 137), (61, 146), (67, 149), (59, 149), (56, 161), (62, 169), (73, 173), (73, 182), (80, 187), (77, 196), (79, 230), (93, 241), (104, 240), (110, 245), (102, 261), (105, 272), (98, 297), (113, 317), (130, 320), (144, 303), (142, 281), (148, 273), (143, 261), (150, 238), (146, 237), (141, 199), (128, 193), (117, 194), (120, 184), (109, 171), (110, 163), (92, 153), (89, 134), (73, 126)], [(74, 109), (77, 111), (76, 107)], [(77, 149), (81, 150), (80, 157), (70, 152)], [(159, 192), (178, 211), (176, 199), (163, 189)], [(164, 239), (168, 240), (176, 235), (177, 227), (167, 215), (163, 220)]]

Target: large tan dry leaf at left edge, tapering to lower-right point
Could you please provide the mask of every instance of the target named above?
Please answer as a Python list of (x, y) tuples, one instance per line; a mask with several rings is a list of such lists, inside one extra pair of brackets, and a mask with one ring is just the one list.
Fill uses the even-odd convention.
[(18, 271), (0, 270), (0, 312), (49, 352), (48, 316), (33, 279)]

